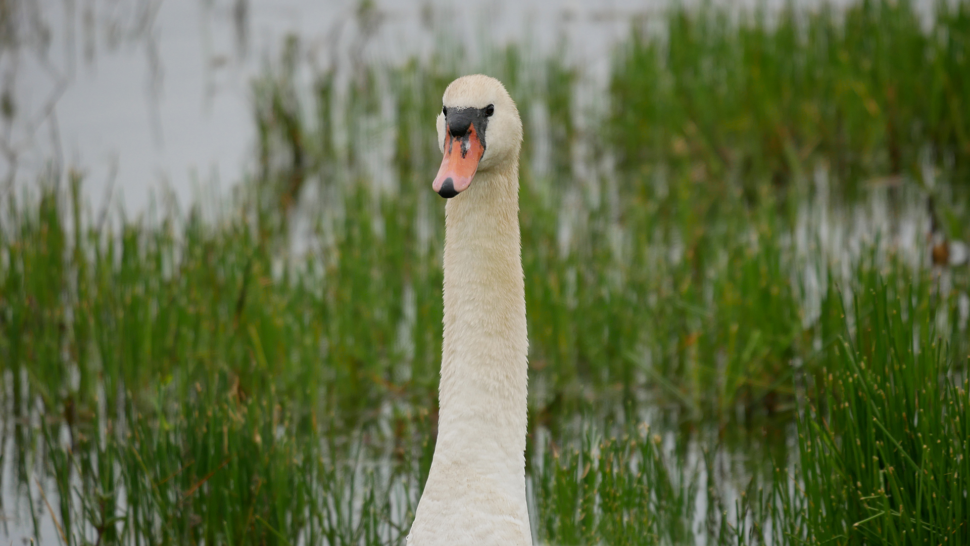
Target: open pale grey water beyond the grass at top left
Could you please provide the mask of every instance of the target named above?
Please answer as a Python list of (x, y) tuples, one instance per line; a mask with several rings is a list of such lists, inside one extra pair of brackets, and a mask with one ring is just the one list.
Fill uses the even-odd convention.
[[(238, 184), (255, 146), (252, 79), (299, 40), (300, 77), (340, 79), (367, 65), (528, 44), (559, 51), (599, 91), (630, 18), (661, 4), (611, 2), (11, 2), (4, 49), (7, 178), (56, 160), (83, 166), (85, 191), (107, 181), (129, 209), (151, 189), (182, 201), (193, 185)], [(346, 82), (341, 82), (345, 84)], [(19, 175), (17, 177), (16, 175)], [(121, 182), (123, 181), (123, 182)]]

